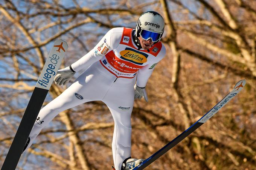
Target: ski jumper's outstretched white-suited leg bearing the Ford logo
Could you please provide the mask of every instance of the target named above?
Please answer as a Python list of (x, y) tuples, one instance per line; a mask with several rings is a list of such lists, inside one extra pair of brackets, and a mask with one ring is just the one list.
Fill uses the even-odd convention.
[[(99, 81), (103, 83), (99, 83)], [(104, 84), (104, 82), (108, 83), (96, 69), (89, 68), (81, 74), (69, 88), (40, 110), (29, 135), (28, 147), (32, 145), (43, 127), (47, 126), (61, 111), (88, 101), (101, 100), (108, 90), (106, 87), (108, 84)]]

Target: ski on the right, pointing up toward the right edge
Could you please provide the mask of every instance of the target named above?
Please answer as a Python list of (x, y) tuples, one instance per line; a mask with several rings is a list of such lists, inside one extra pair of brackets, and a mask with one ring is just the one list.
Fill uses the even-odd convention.
[(197, 128), (199, 128), (207, 120), (209, 120), (214, 114), (216, 114), (222, 107), (224, 107), (224, 105), (226, 105), (232, 98), (234, 98), (243, 89), (245, 84), (246, 84), (246, 80), (238, 81), (238, 83), (236, 83), (233, 90), (231, 90), (229, 94), (227, 94), (221, 101), (219, 101), (218, 104), (216, 104), (213, 108), (211, 108), (211, 110), (209, 110), (206, 114), (204, 114), (203, 117), (201, 117), (197, 122), (195, 122), (193, 125), (191, 125), (189, 128), (187, 128), (184, 132), (182, 132), (180, 135), (178, 135), (176, 138), (174, 138), (172, 141), (170, 141), (164, 147), (159, 149), (157, 152), (155, 152), (149, 158), (145, 159), (141, 164), (139, 164), (133, 170), (143, 170), (148, 165), (150, 165), (152, 162), (154, 162), (156, 159), (158, 159), (160, 156), (165, 154), (172, 147), (177, 145), (181, 140), (186, 138), (189, 134), (194, 132)]

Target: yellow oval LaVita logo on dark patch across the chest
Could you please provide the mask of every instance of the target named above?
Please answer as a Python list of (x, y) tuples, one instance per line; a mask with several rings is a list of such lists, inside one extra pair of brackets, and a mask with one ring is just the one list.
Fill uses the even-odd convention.
[(148, 54), (136, 51), (132, 48), (126, 47), (125, 50), (120, 52), (121, 59), (142, 65), (143, 63), (146, 63), (148, 61)]

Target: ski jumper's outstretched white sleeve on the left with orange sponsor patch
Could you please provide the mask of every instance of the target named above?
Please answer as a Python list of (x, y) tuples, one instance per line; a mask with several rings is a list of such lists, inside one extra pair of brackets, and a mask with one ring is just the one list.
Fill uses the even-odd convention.
[(118, 46), (122, 38), (122, 32), (123, 28), (113, 28), (109, 30), (89, 53), (85, 54), (81, 59), (71, 65), (72, 69), (76, 72), (81, 69), (87, 69), (93, 63), (101, 60), (105, 54)]

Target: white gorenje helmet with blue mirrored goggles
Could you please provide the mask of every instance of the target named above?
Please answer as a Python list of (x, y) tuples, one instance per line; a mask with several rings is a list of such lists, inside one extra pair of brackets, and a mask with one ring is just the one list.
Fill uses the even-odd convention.
[(163, 17), (155, 11), (144, 12), (140, 15), (136, 24), (136, 37), (141, 36), (144, 40), (152, 42), (160, 41), (165, 30)]

